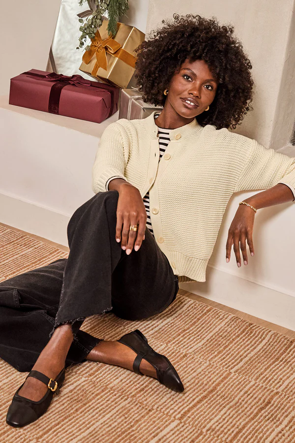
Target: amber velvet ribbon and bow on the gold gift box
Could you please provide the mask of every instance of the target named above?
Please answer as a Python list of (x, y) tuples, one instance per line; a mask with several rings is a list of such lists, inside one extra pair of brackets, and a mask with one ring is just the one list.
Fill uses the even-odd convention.
[[(118, 23), (118, 29), (120, 27)], [(88, 64), (92, 59), (93, 55), (96, 55), (96, 63), (91, 71), (91, 75), (96, 77), (98, 68), (104, 70), (108, 69), (108, 59), (107, 53), (114, 57), (122, 60), (124, 63), (129, 64), (135, 68), (136, 57), (134, 57), (130, 52), (125, 51), (120, 45), (120, 43), (114, 40), (113, 36), (108, 36), (104, 40), (101, 38), (99, 31), (96, 31), (95, 37), (91, 38), (91, 45), (88, 51), (85, 51), (82, 60), (84, 63)]]

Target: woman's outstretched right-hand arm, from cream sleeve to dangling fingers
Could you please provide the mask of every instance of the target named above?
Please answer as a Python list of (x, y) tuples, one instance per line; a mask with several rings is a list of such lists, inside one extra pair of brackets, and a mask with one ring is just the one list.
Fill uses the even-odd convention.
[[(286, 184), (280, 183), (280, 181), (286, 182)], [(255, 209), (295, 201), (295, 158), (277, 153), (273, 149), (266, 149), (253, 140), (250, 156), (238, 180), (235, 192), (252, 189), (266, 189), (243, 200)], [(244, 264), (248, 263), (246, 242), (251, 255), (254, 255), (255, 214), (256, 211), (250, 206), (239, 205), (229, 228), (226, 261), (230, 261), (234, 245), (238, 267), (241, 266), (240, 250)]]

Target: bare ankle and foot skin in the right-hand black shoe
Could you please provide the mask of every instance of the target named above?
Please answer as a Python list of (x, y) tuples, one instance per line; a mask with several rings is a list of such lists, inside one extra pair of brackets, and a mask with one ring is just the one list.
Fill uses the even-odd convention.
[[(121, 366), (133, 371), (133, 362), (137, 353), (126, 345), (119, 342), (99, 342), (86, 357), (90, 361), (107, 363), (108, 365)], [(140, 371), (149, 377), (157, 378), (155, 368), (144, 358), (141, 361)]]

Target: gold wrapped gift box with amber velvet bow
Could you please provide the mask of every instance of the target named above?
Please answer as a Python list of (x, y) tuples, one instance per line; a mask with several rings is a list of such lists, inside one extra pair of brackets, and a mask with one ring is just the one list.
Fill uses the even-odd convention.
[(96, 31), (79, 69), (103, 82), (126, 88), (135, 71), (134, 50), (144, 41), (145, 34), (118, 22), (118, 32), (112, 38), (107, 32), (108, 23), (104, 20)]

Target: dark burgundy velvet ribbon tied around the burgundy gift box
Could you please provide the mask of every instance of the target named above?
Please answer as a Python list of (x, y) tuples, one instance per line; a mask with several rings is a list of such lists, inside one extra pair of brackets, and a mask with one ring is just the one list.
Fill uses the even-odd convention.
[[(36, 80), (43, 80), (47, 82), (55, 82), (50, 90), (49, 101), (48, 101), (48, 112), (51, 114), (59, 114), (59, 100), (61, 91), (65, 86), (74, 85), (79, 88), (89, 88), (94, 87), (100, 89), (102, 91), (109, 92), (111, 94), (111, 106), (110, 112), (107, 118), (109, 118), (113, 114), (114, 109), (114, 91), (111, 89), (112, 87), (109, 85), (100, 85), (97, 82), (91, 82), (90, 80), (86, 80), (82, 75), (74, 74), (74, 75), (62, 75), (57, 74), (56, 72), (51, 72), (50, 74), (37, 74), (35, 72), (23, 72), (22, 74), (30, 75), (35, 77)], [(110, 88), (110, 89), (109, 89)]]

